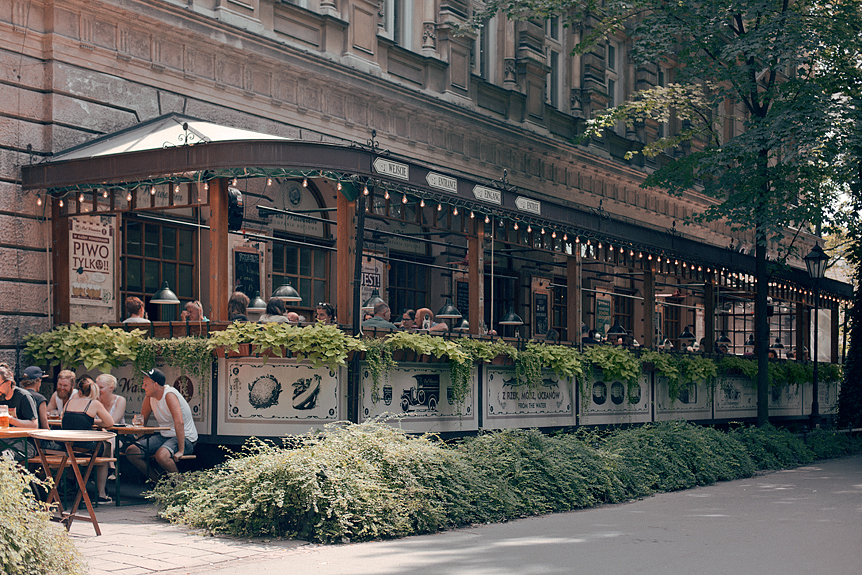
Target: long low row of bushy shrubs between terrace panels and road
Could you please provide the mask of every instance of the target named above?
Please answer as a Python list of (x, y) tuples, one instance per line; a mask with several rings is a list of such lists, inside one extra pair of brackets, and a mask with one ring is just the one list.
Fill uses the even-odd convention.
[[(809, 441), (822, 443), (818, 452), (847, 452), (846, 437)], [(369, 421), (284, 446), (250, 440), (215, 469), (162, 481), (152, 498), (162, 517), (215, 533), (340, 543), (624, 501), (812, 457), (802, 440), (772, 427), (509, 430), (450, 446)]]

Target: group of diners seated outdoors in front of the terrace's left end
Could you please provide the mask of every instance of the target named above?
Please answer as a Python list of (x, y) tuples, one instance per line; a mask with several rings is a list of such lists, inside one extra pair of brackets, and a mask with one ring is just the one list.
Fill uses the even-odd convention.
[[(89, 375), (76, 377), (70, 370), (62, 370), (57, 375), (57, 384), (50, 399), (39, 392), (42, 380), (47, 377), (38, 366), (24, 370), (20, 385), (16, 384), (12, 370), (0, 364), (0, 405), (7, 406), (9, 425), (28, 429), (49, 429), (50, 420), (60, 421), (64, 430), (92, 430), (95, 428), (114, 428), (125, 426), (126, 398), (114, 393), (117, 378), (110, 373), (102, 373), (94, 380)], [(149, 473), (150, 479), (158, 477), (155, 468), (145, 458), (152, 457), (168, 473), (176, 473), (176, 462), (183, 455), (194, 452), (198, 439), (192, 419), (191, 408), (183, 396), (173, 387), (166, 385), (167, 378), (159, 369), (143, 373), (145, 393), (141, 408), (141, 427), (147, 425), (149, 416), (155, 416), (158, 435), (143, 434), (133, 438), (123, 453), (142, 473)], [(63, 451), (59, 443), (43, 442), (43, 448), (50, 451)], [(116, 452), (115, 442), (94, 442), (76, 444), (76, 449), (96, 457), (111, 458)], [(32, 440), (22, 441), (22, 448), (16, 455), (23, 459), (36, 455)], [(109, 478), (114, 479), (114, 465), (100, 464), (96, 467), (96, 489), (98, 503), (112, 500), (105, 491)]]

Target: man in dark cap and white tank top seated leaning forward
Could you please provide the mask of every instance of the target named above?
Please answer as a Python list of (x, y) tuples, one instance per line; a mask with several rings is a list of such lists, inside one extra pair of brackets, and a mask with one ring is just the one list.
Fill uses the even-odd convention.
[[(147, 462), (144, 457), (155, 457), (156, 462), (168, 473), (177, 472), (176, 462), (183, 455), (191, 455), (198, 440), (198, 432), (192, 420), (192, 410), (188, 402), (173, 387), (165, 386), (165, 374), (159, 369), (151, 369), (144, 374), (144, 404), (141, 416), (144, 425), (150, 414), (156, 416), (160, 427), (168, 429), (161, 435), (151, 435), (146, 439), (130, 445), (126, 449), (129, 461), (147, 473)], [(155, 473), (150, 470), (152, 478)]]

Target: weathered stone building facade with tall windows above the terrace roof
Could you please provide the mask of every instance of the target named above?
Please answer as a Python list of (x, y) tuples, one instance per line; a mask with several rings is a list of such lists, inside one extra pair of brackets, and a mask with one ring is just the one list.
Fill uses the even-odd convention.
[(470, 14), (466, 0), (0, 0), (0, 359), (17, 362), (23, 337), (58, 318), (51, 210), (22, 191), (22, 166), (172, 112), (373, 141), (474, 179), (505, 170), (538, 200), (752, 245), (722, 222), (688, 222), (710, 201), (696, 192), (640, 187), (655, 166), (625, 152), (673, 122), (576, 140), (585, 118), (672, 71), (635, 69), (622, 38), (572, 56), (581, 31), (554, 20), (498, 16), (459, 33)]

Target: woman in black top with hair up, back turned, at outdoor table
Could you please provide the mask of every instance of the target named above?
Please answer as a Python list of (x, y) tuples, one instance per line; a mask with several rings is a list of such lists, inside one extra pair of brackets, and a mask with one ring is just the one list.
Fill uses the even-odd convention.
[[(114, 419), (99, 400), (99, 386), (89, 377), (82, 377), (78, 382), (79, 393), (66, 403), (63, 412), (63, 429), (91, 430), (93, 425), (99, 427), (112, 427)], [(107, 441), (94, 441), (92, 443), (77, 443), (75, 447), (83, 447), (92, 451), (96, 457), (111, 457), (111, 446)], [(113, 501), (105, 492), (105, 483), (108, 481), (108, 464), (103, 463), (96, 467), (96, 489), (98, 490), (97, 501), (99, 503), (110, 503)]]

